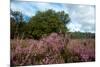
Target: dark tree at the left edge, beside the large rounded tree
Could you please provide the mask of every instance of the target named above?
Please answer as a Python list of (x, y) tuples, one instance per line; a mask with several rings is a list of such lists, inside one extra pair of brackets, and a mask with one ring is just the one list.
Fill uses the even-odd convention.
[(19, 11), (12, 11), (11, 10), (11, 38), (21, 37), (25, 30), (26, 23), (23, 20), (23, 15)]

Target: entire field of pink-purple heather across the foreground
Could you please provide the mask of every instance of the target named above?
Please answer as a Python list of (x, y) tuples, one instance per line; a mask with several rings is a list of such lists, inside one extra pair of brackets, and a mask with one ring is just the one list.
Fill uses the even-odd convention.
[(11, 65), (95, 61), (94, 39), (71, 39), (57, 33), (39, 40), (11, 39)]

